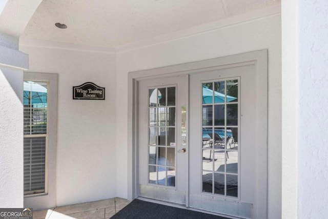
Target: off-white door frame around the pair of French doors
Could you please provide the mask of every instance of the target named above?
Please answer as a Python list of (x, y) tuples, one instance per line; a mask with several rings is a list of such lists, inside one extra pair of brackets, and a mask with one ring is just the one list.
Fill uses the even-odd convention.
[[(256, 133), (260, 130), (264, 135), (257, 135), (256, 145), (258, 147), (257, 184), (260, 191), (265, 191), (256, 197), (259, 203), (258, 212), (254, 212), (258, 218), (267, 217), (267, 174), (268, 174), (268, 50), (259, 50), (219, 58), (207, 59), (204, 61), (185, 63), (155, 69), (140, 70), (128, 73), (128, 200), (138, 197), (138, 81), (145, 78), (157, 78), (163, 76), (178, 76), (202, 71), (217, 70), (227, 67), (243, 66), (254, 64), (256, 66)], [(187, 108), (188, 109), (188, 108)], [(265, 147), (263, 147), (265, 146)], [(187, 180), (188, 181), (188, 180)], [(187, 183), (188, 185), (188, 183)], [(188, 188), (187, 188), (188, 190)], [(260, 211), (260, 212), (259, 212)]]

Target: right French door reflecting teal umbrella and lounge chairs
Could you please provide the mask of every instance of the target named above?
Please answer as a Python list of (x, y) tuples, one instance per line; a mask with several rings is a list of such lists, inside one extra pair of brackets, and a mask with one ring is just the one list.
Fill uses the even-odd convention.
[(255, 66), (190, 75), (189, 206), (253, 218)]

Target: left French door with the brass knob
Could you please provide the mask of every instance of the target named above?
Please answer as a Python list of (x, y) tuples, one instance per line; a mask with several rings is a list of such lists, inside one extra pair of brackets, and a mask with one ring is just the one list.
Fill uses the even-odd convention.
[(186, 76), (139, 82), (139, 196), (186, 204)]

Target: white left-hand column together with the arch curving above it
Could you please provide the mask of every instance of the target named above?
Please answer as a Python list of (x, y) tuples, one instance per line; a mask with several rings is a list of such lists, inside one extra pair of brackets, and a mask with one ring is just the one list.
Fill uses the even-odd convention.
[(24, 205), (23, 70), (19, 36), (42, 0), (0, 1), (0, 207)]

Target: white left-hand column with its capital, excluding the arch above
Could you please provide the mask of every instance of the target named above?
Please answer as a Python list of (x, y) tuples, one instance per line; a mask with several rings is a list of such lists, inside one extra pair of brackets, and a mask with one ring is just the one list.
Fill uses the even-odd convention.
[(0, 206), (22, 208), (23, 69), (28, 56), (18, 51), (18, 38), (0, 33)]

